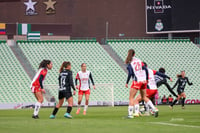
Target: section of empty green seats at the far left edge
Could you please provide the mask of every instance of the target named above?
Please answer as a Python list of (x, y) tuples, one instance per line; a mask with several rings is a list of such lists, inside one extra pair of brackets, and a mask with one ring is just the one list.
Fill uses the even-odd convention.
[(0, 47), (0, 103), (35, 101), (30, 93), (31, 80), (6, 41), (0, 41)]

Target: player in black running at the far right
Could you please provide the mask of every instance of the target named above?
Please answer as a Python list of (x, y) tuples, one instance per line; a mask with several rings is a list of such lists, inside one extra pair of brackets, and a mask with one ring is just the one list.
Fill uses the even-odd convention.
[(185, 95), (185, 92), (184, 92), (184, 89), (185, 89), (185, 85), (186, 83), (188, 83), (189, 85), (193, 85), (193, 83), (190, 83), (188, 78), (185, 77), (185, 71), (181, 71), (181, 74), (177, 75), (177, 78), (178, 80), (176, 81), (174, 87), (172, 89), (174, 89), (177, 85), (178, 85), (178, 88), (177, 88), (177, 92), (178, 92), (178, 97), (176, 100), (174, 100), (174, 102), (169, 106), (171, 109), (173, 109), (173, 106), (176, 104), (176, 102), (178, 100), (180, 100), (180, 98), (182, 98), (182, 109), (184, 109), (184, 105), (185, 105), (185, 98), (186, 98), (186, 95)]

